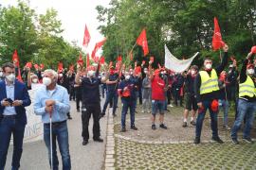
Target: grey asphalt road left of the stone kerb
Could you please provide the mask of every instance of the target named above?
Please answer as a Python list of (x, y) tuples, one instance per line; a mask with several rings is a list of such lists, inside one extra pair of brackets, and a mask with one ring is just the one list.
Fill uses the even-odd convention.
[[(101, 106), (102, 106), (101, 101)], [(81, 112), (76, 111), (76, 104), (74, 101), (71, 104), (71, 116), (73, 120), (68, 121), (69, 132), (69, 149), (71, 155), (72, 169), (74, 170), (100, 170), (104, 159), (105, 150), (105, 136), (106, 136), (106, 117), (101, 119), (101, 137), (104, 139), (103, 144), (95, 143), (92, 139), (89, 144), (82, 145), (82, 122)], [(92, 138), (92, 119), (90, 120), (90, 137)], [(6, 169), (10, 169), (12, 157), (12, 145), (9, 146), (8, 160)], [(58, 151), (59, 153), (59, 151)], [(59, 154), (59, 161), (62, 164), (61, 156)], [(46, 145), (44, 141), (24, 144), (24, 152), (21, 160), (21, 170), (47, 170), (49, 164), (47, 161)], [(62, 169), (62, 165), (60, 166)]]

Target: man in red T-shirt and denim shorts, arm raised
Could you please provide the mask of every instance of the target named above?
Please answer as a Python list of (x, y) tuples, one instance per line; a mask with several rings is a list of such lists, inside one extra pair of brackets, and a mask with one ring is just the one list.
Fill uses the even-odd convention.
[(160, 69), (155, 71), (155, 74), (152, 73), (152, 61), (149, 62), (150, 69), (150, 79), (152, 83), (152, 129), (155, 127), (155, 114), (159, 110), (160, 116), (160, 126), (161, 128), (167, 129), (164, 125), (164, 105), (165, 105), (165, 91), (167, 89), (164, 82), (164, 70)]

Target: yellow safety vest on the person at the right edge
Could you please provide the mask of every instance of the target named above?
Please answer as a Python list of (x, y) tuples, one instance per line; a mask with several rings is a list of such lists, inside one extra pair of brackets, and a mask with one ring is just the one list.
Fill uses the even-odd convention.
[(253, 97), (256, 94), (256, 88), (250, 76), (244, 83), (239, 84), (239, 97), (249, 96)]

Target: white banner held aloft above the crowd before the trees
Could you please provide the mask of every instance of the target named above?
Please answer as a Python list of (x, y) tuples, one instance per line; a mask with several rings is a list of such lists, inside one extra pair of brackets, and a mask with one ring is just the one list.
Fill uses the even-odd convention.
[(194, 59), (199, 54), (199, 52), (195, 53), (191, 59), (176, 59), (174, 55), (169, 51), (167, 46), (165, 45), (164, 47), (165, 47), (164, 66), (175, 73), (182, 73), (185, 70), (187, 70), (192, 64), (192, 59)]

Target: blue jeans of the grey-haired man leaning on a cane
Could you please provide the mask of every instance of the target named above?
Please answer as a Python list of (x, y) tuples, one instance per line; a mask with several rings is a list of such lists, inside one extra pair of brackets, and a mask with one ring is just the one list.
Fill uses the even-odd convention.
[[(44, 125), (44, 140), (46, 143), (46, 147), (48, 150), (48, 158), (49, 163), (51, 164), (51, 156), (50, 156), (50, 126)], [(56, 140), (58, 141), (60, 152), (63, 159), (63, 169), (69, 170), (71, 169), (71, 161), (69, 155), (69, 144), (68, 144), (68, 131), (66, 122), (61, 123), (57, 126), (52, 126), (52, 157), (53, 157), (53, 169), (59, 169), (59, 161), (57, 157), (56, 151)]]

